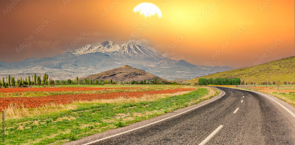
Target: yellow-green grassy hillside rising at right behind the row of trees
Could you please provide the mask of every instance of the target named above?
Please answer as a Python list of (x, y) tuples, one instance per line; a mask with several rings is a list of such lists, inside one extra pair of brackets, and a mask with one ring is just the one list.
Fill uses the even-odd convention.
[(198, 82), (199, 78), (241, 78), (246, 82), (255, 81), (284, 81), (295, 82), (295, 56), (282, 58), (276, 61), (263, 63), (257, 66), (250, 66), (242, 69), (224, 71), (207, 76), (201, 76), (189, 80), (189, 82)]

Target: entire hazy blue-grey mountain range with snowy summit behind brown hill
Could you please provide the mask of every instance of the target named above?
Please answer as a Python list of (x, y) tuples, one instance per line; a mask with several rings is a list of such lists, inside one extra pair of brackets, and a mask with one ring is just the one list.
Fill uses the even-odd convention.
[(116, 44), (105, 41), (100, 45), (84, 47), (65, 54), (44, 58), (27, 58), (19, 62), (0, 61), (0, 77), (50, 74), (53, 79), (74, 79), (118, 68), (123, 65), (142, 69), (165, 79), (195, 78), (232, 67), (197, 66), (184, 60), (176, 61), (135, 44)]

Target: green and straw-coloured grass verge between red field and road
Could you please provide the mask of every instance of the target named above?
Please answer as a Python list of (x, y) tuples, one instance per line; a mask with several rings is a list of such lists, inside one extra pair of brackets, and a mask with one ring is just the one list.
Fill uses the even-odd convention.
[[(199, 87), (181, 95), (78, 102), (73, 109), (6, 120), (5, 144), (63, 144), (197, 104), (213, 97)], [(215, 91), (215, 90), (214, 90)], [(215, 91), (215, 95), (218, 95)]]

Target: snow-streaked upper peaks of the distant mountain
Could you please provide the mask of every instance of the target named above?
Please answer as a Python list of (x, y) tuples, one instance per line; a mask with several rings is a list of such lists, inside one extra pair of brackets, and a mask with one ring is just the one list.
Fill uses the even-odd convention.
[(124, 43), (118, 45), (112, 41), (105, 41), (100, 45), (93, 46), (87, 44), (83, 48), (69, 52), (69, 54), (74, 54), (75, 56), (81, 56), (87, 53), (101, 52), (116, 58), (128, 58), (128, 59), (151, 59), (151, 60), (163, 60), (166, 59), (163, 56), (154, 53), (152, 50), (144, 48), (140, 45)]

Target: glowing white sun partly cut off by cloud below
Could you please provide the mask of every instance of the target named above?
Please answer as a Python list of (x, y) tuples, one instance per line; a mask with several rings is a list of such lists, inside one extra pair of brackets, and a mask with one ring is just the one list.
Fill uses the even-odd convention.
[(151, 17), (153, 15), (158, 15), (158, 18), (162, 17), (162, 12), (158, 8), (158, 6), (152, 4), (152, 3), (141, 3), (133, 9), (133, 11), (140, 12), (140, 15), (144, 15), (145, 18)]

